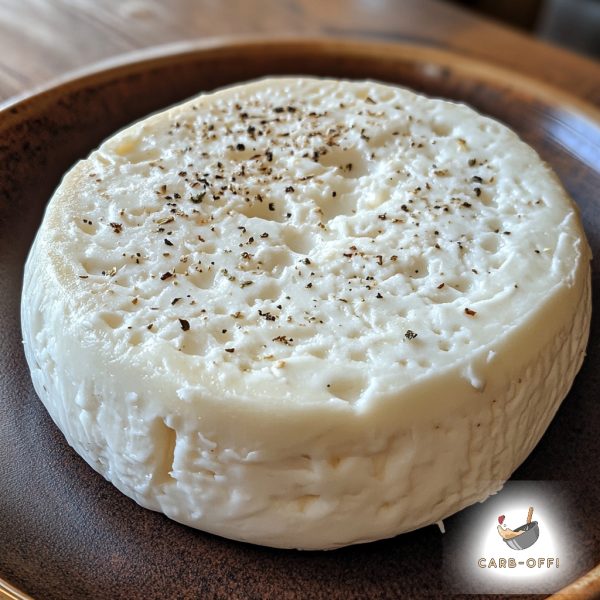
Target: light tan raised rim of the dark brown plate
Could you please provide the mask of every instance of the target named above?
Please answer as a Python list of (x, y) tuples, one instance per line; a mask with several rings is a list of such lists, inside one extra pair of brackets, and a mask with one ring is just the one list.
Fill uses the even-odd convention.
[[(254, 52), (274, 49), (288, 52), (310, 51), (317, 55), (343, 55), (346, 57), (387, 56), (406, 59), (415, 63), (433, 66), (435, 69), (451, 68), (462, 75), (467, 75), (482, 82), (500, 82), (507, 89), (526, 91), (544, 103), (568, 110), (580, 118), (585, 118), (594, 127), (600, 128), (600, 108), (590, 101), (566, 92), (552, 84), (536, 79), (530, 75), (514, 72), (506, 67), (487, 62), (479, 58), (434, 47), (426, 42), (382, 42), (370, 38), (355, 36), (326, 35), (243, 35), (218, 36), (203, 40), (184, 40), (169, 44), (161, 44), (134, 50), (113, 57), (93, 62), (85, 67), (72, 69), (53, 77), (47, 82), (33, 86), (17, 95), (0, 101), (0, 132), (15, 123), (28, 120), (30, 112), (39, 110), (40, 105), (51, 102), (56, 97), (65, 97), (69, 93), (84, 89), (90, 84), (110, 82), (119, 77), (144, 73), (154, 65), (172, 62), (192, 61), (198, 55), (227, 52)], [(432, 73), (437, 76), (436, 70)], [(427, 75), (427, 74), (426, 74)], [(577, 595), (581, 600), (592, 600), (600, 593), (600, 563), (590, 571), (547, 596), (548, 600), (561, 600)], [(0, 600), (32, 600), (31, 596), (0, 577)]]

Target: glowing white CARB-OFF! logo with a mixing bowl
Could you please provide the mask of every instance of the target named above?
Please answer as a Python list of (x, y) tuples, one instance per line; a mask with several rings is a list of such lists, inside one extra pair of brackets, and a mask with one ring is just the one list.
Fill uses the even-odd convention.
[(577, 523), (570, 522), (566, 488), (560, 482), (508, 482), (453, 517), (443, 538), (450, 590), (552, 593), (576, 579), (586, 557)]

